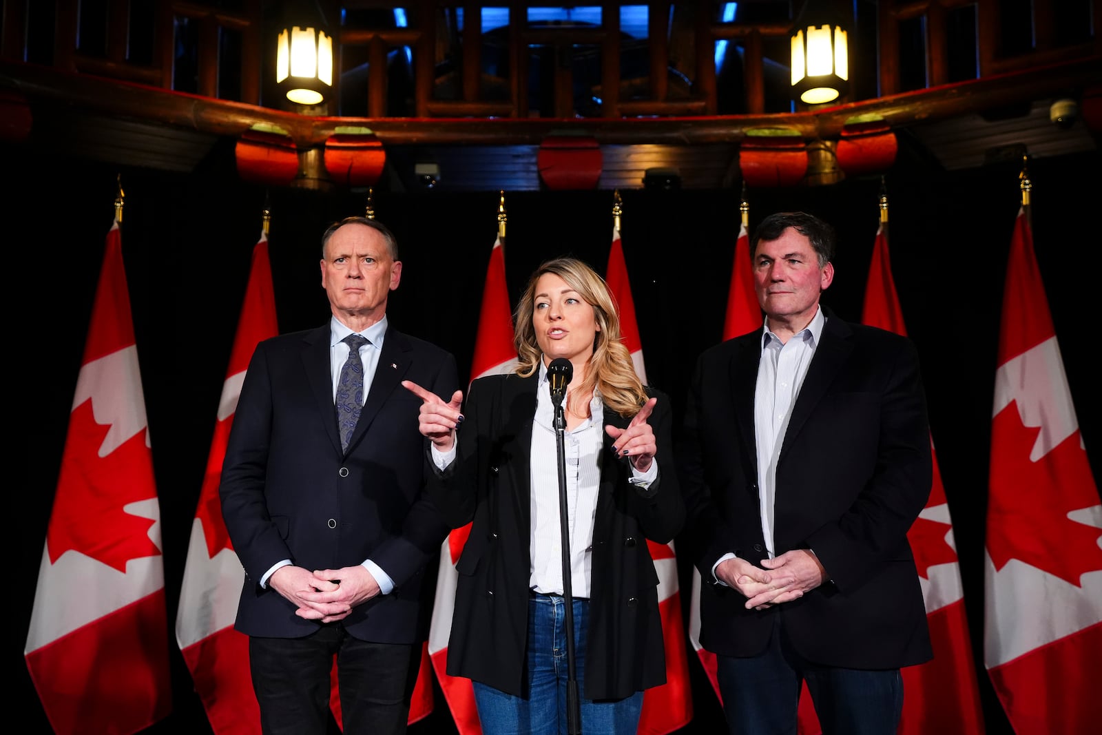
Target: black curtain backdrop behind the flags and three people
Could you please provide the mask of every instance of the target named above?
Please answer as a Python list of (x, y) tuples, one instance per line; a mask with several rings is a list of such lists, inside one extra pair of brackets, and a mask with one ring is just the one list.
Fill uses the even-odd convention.
[[(363, 214), (366, 194), (271, 190), (241, 182), (233, 151), (217, 149), (198, 171), (119, 169), (51, 159), (6, 144), (9, 194), (4, 244), (19, 410), (9, 435), (24, 467), (12, 520), (19, 526), (11, 601), (15, 623), (8, 666), (25, 733), (48, 733), (26, 673), (23, 645), (54, 496), (66, 423), (80, 367), (116, 176), (126, 193), (122, 250), (161, 501), (173, 712), (148, 733), (209, 733), (191, 675), (175, 648), (174, 623), (188, 534), (209, 451), (218, 398), (237, 327), (252, 246), (270, 202), (270, 253), (279, 326), (292, 332), (328, 318), (321, 288), (321, 234)], [(1098, 368), (1089, 353), (1099, 284), (1092, 196), (1080, 173), (1099, 154), (1030, 162), (1037, 258), (1056, 324), (1080, 429), (1102, 475)], [(229, 161), (227, 165), (225, 162)], [(219, 163), (220, 162), (220, 163)], [(983, 541), (991, 411), (1003, 282), (1018, 210), (1019, 162), (943, 172), (900, 160), (886, 175), (889, 242), (899, 299), (918, 345), (931, 430), (952, 512), (987, 733), (1011, 733), (983, 668)], [(450, 349), (469, 376), (486, 263), (497, 235), (498, 193), (375, 192), (379, 220), (397, 234), (404, 270), (389, 316), (399, 328)], [(750, 227), (781, 209), (806, 209), (839, 233), (836, 274), (824, 302), (860, 321), (878, 225), (877, 176), (832, 186), (749, 190)], [(1096, 193), (1096, 190), (1095, 192)], [(683, 412), (696, 355), (722, 333), (738, 230), (739, 192), (622, 191), (624, 251), (650, 381)], [(613, 192), (506, 192), (505, 250), (516, 300), (544, 259), (574, 255), (604, 272)], [(268, 198), (270, 197), (270, 198)], [(20, 260), (22, 258), (22, 260)], [(19, 263), (15, 261), (19, 260)], [(17, 318), (18, 316), (18, 318)], [(1087, 318), (1090, 316), (1091, 318)], [(21, 338), (22, 338), (21, 337)], [(691, 569), (680, 566), (684, 619)], [(687, 645), (688, 646), (688, 645)], [(681, 733), (722, 731), (722, 713), (688, 646), (695, 715)], [(414, 734), (454, 733), (443, 696)]]

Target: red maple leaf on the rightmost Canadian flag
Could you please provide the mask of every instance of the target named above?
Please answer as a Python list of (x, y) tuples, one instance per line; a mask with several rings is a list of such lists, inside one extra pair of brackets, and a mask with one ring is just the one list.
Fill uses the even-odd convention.
[(1082, 574), (1102, 569), (1102, 531), (1068, 512), (1098, 505), (1098, 486), (1078, 431), (1030, 462), (1038, 433), (1022, 424), (1014, 402), (992, 422), (987, 553), (996, 570), (1018, 559), (1079, 586)]

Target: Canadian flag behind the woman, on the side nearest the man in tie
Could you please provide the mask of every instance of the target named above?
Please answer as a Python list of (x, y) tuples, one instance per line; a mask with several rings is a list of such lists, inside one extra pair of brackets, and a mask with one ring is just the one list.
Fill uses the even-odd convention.
[[(512, 372), (517, 366), (517, 350), (512, 344), (512, 310), (509, 307), (509, 289), (505, 280), (505, 242), (499, 235), (494, 241), (486, 267), (482, 309), (478, 313), (478, 334), (471, 364), (472, 380), (487, 375)], [(440, 568), (436, 572), (436, 598), (429, 624), (429, 657), (436, 671), (440, 689), (447, 700), (458, 735), (482, 735), (475, 693), (469, 679), (447, 675), (447, 639), (452, 631), (452, 610), (455, 606), (455, 583), (458, 577), (455, 562), (463, 552), (463, 544), (471, 534), (471, 525), (447, 534), (440, 548)]]

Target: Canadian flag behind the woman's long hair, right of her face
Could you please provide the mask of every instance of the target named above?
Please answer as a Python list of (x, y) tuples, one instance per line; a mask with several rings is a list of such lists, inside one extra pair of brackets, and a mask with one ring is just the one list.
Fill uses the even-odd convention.
[[(619, 311), (624, 345), (631, 354), (639, 380), (646, 385), (647, 372), (642, 365), (642, 343), (635, 318), (635, 300), (627, 278), (627, 262), (624, 260), (619, 229), (616, 227), (613, 228), (613, 247), (608, 253), (605, 282)], [(672, 462), (672, 457), (670, 461)], [(666, 648), (666, 683), (644, 692), (638, 732), (640, 735), (666, 735), (684, 727), (692, 720), (692, 692), (689, 685), (689, 659), (685, 655), (673, 542), (655, 543), (648, 539), (647, 548), (655, 561), (655, 571), (658, 572), (658, 607)]]

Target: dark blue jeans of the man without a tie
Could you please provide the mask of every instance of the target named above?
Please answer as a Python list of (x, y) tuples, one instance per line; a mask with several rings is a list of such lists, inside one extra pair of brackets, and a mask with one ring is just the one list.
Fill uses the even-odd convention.
[(769, 646), (748, 658), (716, 656), (716, 678), (730, 735), (796, 735), (800, 685), (815, 705), (823, 735), (895, 735), (903, 713), (898, 669), (819, 666), (785, 639), (775, 615)]

